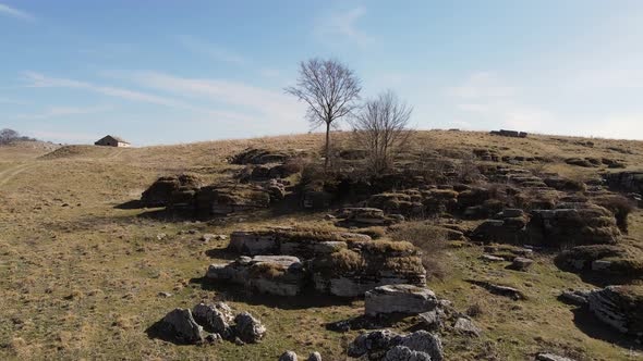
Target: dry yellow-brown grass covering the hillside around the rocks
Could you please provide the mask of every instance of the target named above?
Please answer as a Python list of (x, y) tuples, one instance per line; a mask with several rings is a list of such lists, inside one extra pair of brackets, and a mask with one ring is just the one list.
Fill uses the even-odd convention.
[[(333, 136), (350, 145), (350, 134)], [(363, 301), (255, 296), (199, 281), (209, 263), (231, 256), (221, 250), (226, 240), (206, 244), (198, 234), (227, 235), (267, 224), (329, 226), (325, 213), (266, 211), (194, 222), (120, 207), (138, 199), (160, 175), (190, 172), (215, 180), (242, 167), (226, 159), (247, 147), (316, 152), (323, 140), (311, 134), (131, 149), (0, 147), (0, 359), (277, 360), (287, 349), (347, 359), (345, 347), (357, 332), (338, 333), (326, 324), (360, 315)], [(597, 170), (568, 165), (567, 158), (609, 158), (632, 170), (643, 164), (643, 142), (636, 141), (430, 130), (418, 133), (410, 147), (416, 152), (470, 154), (485, 148), (500, 155), (542, 157), (549, 162), (534, 167), (574, 178), (595, 176)], [(636, 210), (630, 217), (628, 239), (640, 247), (643, 213)], [(643, 358), (639, 345), (557, 300), (562, 289), (594, 286), (557, 269), (551, 256), (538, 253), (525, 273), (485, 263), (478, 260), (482, 252), (474, 244), (451, 245), (440, 254), (449, 264), (447, 274), (428, 282), (457, 309), (480, 310), (474, 320), (482, 337), (445, 338), (448, 360), (531, 360), (544, 350), (577, 360)], [(519, 287), (527, 299), (492, 296), (465, 282), (481, 275)], [(178, 346), (146, 333), (173, 308), (201, 300), (225, 300), (234, 310), (251, 311), (266, 325), (265, 339), (244, 346)], [(392, 328), (411, 325), (402, 320)]]

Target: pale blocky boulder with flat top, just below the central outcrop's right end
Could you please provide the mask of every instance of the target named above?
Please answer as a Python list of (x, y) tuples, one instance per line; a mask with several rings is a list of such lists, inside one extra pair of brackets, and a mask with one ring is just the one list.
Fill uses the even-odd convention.
[(435, 309), (437, 298), (426, 288), (413, 285), (386, 285), (366, 291), (365, 314), (418, 314)]

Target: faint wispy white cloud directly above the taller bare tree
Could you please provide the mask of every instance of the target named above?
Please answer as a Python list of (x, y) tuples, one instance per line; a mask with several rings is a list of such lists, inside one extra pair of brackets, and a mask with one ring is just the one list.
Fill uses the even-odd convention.
[(357, 22), (364, 17), (366, 9), (353, 8), (348, 11), (335, 12), (319, 18), (315, 26), (315, 34), (329, 41), (348, 40), (357, 46), (365, 47), (375, 40), (357, 27)]

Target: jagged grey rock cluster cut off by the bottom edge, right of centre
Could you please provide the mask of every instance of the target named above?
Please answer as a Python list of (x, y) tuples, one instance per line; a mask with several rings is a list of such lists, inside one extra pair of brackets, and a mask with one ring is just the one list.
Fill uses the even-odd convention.
[(417, 331), (405, 336), (389, 329), (362, 334), (349, 345), (348, 356), (387, 361), (444, 360), (439, 337), (426, 331)]

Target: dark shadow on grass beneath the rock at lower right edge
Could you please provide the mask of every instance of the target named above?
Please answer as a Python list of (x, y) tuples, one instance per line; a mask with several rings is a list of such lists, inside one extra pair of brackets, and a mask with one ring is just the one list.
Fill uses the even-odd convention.
[(585, 335), (626, 349), (643, 350), (643, 345), (636, 344), (634, 337), (623, 335), (611, 326), (600, 322), (587, 308), (577, 308), (572, 312), (574, 324)]

